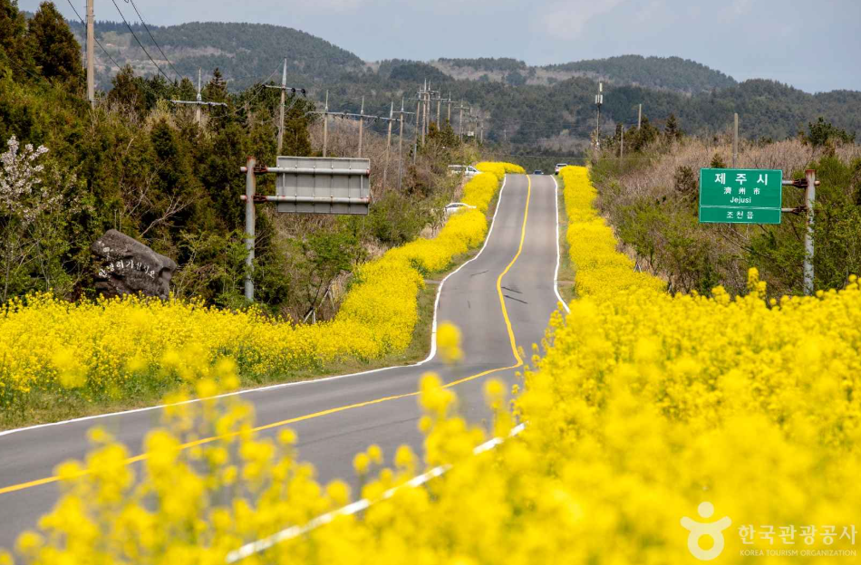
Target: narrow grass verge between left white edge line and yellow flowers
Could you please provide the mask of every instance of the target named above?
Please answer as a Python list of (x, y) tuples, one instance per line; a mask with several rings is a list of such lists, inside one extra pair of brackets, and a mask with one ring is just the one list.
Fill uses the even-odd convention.
[[(488, 206), (488, 222), (491, 221), (499, 201), (499, 191), (493, 196)], [(440, 273), (432, 273), (432, 278), (426, 280), (425, 288), (417, 296), (419, 320), (412, 331), (412, 339), (406, 350), (392, 353), (380, 359), (342, 359), (326, 363), (314, 369), (302, 369), (287, 373), (270, 375), (239, 375), (240, 387), (243, 389), (264, 387), (267, 385), (290, 383), (315, 378), (349, 375), (374, 369), (411, 365), (427, 358), (430, 353), (430, 334), (433, 325), (434, 303), (439, 292), (441, 280), (460, 267), (469, 259), (475, 257), (479, 249), (473, 249), (465, 254), (454, 257), (449, 267)], [(0, 411), (0, 430), (14, 429), (23, 426), (37, 426), (60, 422), (78, 417), (97, 416), (122, 412), (138, 408), (153, 407), (160, 404), (165, 395), (175, 392), (178, 383), (174, 379), (145, 378), (135, 379), (133, 389), (107, 391), (98, 397), (85, 398), (73, 391), (63, 394), (63, 391), (47, 394), (34, 390), (29, 402), (23, 407)]]

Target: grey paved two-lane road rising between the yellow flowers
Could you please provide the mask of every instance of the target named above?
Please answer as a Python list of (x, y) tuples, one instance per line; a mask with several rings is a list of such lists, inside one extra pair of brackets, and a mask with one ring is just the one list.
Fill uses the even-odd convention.
[[(438, 319), (460, 327), (464, 362), (450, 369), (430, 359), (420, 366), (248, 391), (243, 397), (254, 403), (257, 424), (270, 426), (260, 434), (295, 429), (300, 457), (314, 463), (323, 481), (354, 477), (353, 455), (372, 443), (390, 457), (404, 443), (421, 452), (415, 393), (427, 371), (453, 383), (465, 417), (486, 422), (485, 378), (515, 382), (512, 337), (528, 362), (556, 310), (556, 263), (556, 184), (551, 177), (509, 176), (485, 248), (450, 275), (440, 292)], [(82, 458), (87, 429), (103, 426), (136, 451), (159, 417), (160, 408), (153, 408), (0, 435), (0, 547), (11, 547), (20, 531), (50, 510), (57, 493), (53, 469)]]

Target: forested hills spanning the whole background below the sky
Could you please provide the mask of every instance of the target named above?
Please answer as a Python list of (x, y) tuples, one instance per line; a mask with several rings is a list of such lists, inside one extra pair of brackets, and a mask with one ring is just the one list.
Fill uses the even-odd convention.
[[(136, 20), (131, 20), (136, 21)], [(72, 29), (79, 41), (80, 23)], [(505, 142), (511, 153), (571, 155), (589, 145), (595, 130), (596, 80), (605, 81), (602, 136), (617, 124), (632, 127), (637, 107), (652, 123), (663, 125), (670, 114), (687, 133), (713, 134), (725, 130), (732, 114), (740, 114), (740, 133), (748, 139), (786, 139), (822, 117), (837, 127), (861, 135), (861, 93), (834, 91), (808, 94), (774, 81), (738, 83), (698, 62), (679, 57), (623, 55), (608, 59), (529, 66), (510, 58), (439, 59), (413, 62), (391, 59), (363, 62), (332, 43), (294, 29), (261, 24), (192, 23), (150, 26), (159, 49), (140, 24), (132, 29), (159, 62), (170, 81), (179, 75), (196, 79), (198, 68), (208, 81), (218, 69), (228, 91), (242, 91), (256, 82), (277, 80), (285, 54), (288, 84), (304, 87), (314, 101), (329, 92), (330, 109), (365, 110), (386, 115), (401, 98), (415, 110), (416, 90), (427, 80), (444, 98), (450, 96), (452, 126), (460, 129), (460, 101), (481, 120), (465, 130), (483, 126), (484, 139)], [(125, 24), (100, 22), (97, 37), (111, 60), (96, 49), (100, 87), (111, 87), (117, 65), (151, 76), (158, 71)], [(175, 68), (175, 69), (174, 69)], [(167, 81), (165, 81), (167, 83)], [(182, 93), (192, 98), (193, 91)], [(434, 109), (435, 110), (435, 109)], [(440, 111), (448, 116), (449, 106)], [(373, 125), (382, 131), (382, 122)]]

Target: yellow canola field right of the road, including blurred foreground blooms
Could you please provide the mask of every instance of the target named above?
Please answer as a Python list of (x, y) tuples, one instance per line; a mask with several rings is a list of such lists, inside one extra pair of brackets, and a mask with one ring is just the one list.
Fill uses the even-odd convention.
[[(425, 463), (451, 464), (448, 473), (383, 497), (420, 469), (401, 447), (381, 470), (392, 454), (372, 445), (354, 460), (370, 508), (238, 562), (854, 562), (856, 278), (766, 302), (751, 271), (745, 296), (670, 296), (647, 275), (622, 276), (587, 171), (562, 177), (577, 277), (588, 283), (565, 320), (554, 315), (513, 411), (501, 383), (486, 384), (492, 435), (505, 441), (474, 455), (489, 432), (468, 426), (453, 390), (426, 377)], [(458, 334), (443, 333), (456, 359)], [(198, 394), (232, 380), (228, 360), (189, 370), (204, 375)], [(526, 426), (509, 437), (515, 417)], [(256, 438), (252, 418), (235, 399), (173, 408), (147, 440), (139, 482), (125, 448), (93, 433), (87, 462), (61, 469), (61, 503), (19, 540), (24, 562), (223, 563), (349, 500), (346, 484), (317, 484), (295, 461), (292, 433)]]

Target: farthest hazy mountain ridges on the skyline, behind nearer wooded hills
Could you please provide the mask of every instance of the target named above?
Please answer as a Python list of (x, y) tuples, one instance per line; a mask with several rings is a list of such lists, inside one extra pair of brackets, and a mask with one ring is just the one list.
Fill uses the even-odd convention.
[[(79, 41), (84, 41), (80, 22), (70, 22)], [(150, 32), (164, 49), (170, 62), (184, 76), (197, 75), (198, 68), (211, 72), (218, 67), (231, 90), (247, 88), (264, 80), (281, 67), (288, 56), (287, 72), (294, 81), (331, 82), (343, 73), (374, 72), (382, 62), (364, 62), (360, 57), (311, 34), (270, 24), (192, 22), (171, 26), (150, 25)], [(159, 62), (162, 71), (174, 78), (167, 62), (152, 45), (141, 24), (131, 24), (141, 43)], [(136, 72), (158, 72), (140, 49), (126, 24), (97, 22), (96, 38), (120, 64), (131, 64)], [(100, 65), (100, 85), (108, 88), (112, 63), (96, 50)], [(696, 93), (735, 86), (731, 77), (680, 57), (622, 55), (591, 61), (529, 66), (510, 58), (437, 59), (430, 62), (393, 60), (398, 63), (427, 64), (450, 79), (497, 81), (512, 85), (552, 85), (574, 77), (602, 79), (615, 85), (644, 86), (667, 91)], [(162, 64), (163, 63), (163, 64)], [(391, 67), (391, 64), (389, 65)], [(276, 74), (280, 74), (276, 72)], [(432, 78), (432, 77), (427, 77)], [(439, 77), (438, 77), (439, 78)], [(421, 80), (421, 78), (419, 78)]]

